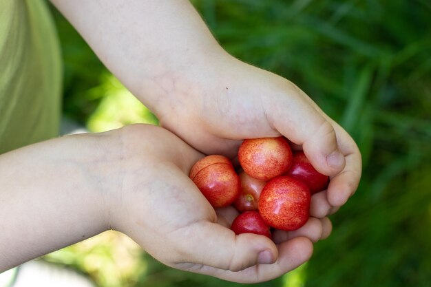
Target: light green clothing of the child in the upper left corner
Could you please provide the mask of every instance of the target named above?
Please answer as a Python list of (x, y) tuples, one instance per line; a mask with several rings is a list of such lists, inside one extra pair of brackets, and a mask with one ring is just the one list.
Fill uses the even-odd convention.
[(61, 54), (44, 0), (0, 0), (0, 154), (59, 134)]

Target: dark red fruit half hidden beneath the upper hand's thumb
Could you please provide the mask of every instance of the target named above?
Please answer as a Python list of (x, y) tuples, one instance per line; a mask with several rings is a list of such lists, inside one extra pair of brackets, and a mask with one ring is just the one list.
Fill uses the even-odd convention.
[(316, 171), (308, 158), (306, 158), (304, 151), (293, 153), (293, 163), (286, 176), (291, 176), (304, 182), (310, 189), (311, 194), (323, 191), (328, 187), (329, 177)]

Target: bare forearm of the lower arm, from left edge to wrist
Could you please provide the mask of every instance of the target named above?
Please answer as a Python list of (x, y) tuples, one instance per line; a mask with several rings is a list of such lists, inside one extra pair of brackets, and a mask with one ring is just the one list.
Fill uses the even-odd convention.
[(0, 156), (0, 272), (109, 228), (110, 137), (66, 136)]

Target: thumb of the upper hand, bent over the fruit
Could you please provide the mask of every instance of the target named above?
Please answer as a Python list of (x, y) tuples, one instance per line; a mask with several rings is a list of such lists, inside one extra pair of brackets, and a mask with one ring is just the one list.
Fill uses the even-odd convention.
[(286, 138), (302, 145), (313, 167), (320, 173), (335, 176), (344, 169), (345, 159), (338, 149), (333, 125), (308, 103), (306, 95), (293, 83), (288, 96), (266, 109), (269, 122)]

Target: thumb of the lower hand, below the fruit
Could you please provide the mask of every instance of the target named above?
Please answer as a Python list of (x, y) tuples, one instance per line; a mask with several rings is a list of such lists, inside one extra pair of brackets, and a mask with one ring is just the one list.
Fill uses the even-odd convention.
[(273, 264), (277, 260), (277, 247), (266, 236), (235, 235), (229, 228), (207, 221), (193, 225), (190, 227), (198, 231), (187, 240), (188, 263), (240, 271), (256, 264)]

